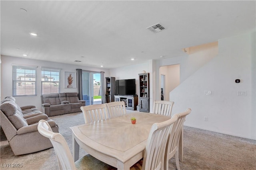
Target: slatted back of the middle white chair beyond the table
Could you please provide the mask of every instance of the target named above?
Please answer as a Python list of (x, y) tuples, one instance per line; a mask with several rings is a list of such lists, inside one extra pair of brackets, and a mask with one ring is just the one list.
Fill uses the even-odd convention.
[(124, 101), (110, 102), (106, 104), (110, 117), (117, 117), (126, 114)]

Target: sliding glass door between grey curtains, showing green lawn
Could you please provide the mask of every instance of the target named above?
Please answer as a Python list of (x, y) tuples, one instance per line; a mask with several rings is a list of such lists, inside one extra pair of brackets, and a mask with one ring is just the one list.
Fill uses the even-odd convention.
[(86, 106), (102, 103), (100, 86), (100, 72), (82, 71), (82, 95)]

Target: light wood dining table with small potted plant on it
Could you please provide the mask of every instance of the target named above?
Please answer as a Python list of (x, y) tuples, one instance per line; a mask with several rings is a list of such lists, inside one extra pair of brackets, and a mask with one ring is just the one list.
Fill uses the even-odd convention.
[[(136, 124), (130, 118), (136, 117)], [(143, 158), (151, 126), (171, 117), (134, 111), (120, 117), (70, 127), (74, 161), (79, 148), (118, 170), (129, 170)]]

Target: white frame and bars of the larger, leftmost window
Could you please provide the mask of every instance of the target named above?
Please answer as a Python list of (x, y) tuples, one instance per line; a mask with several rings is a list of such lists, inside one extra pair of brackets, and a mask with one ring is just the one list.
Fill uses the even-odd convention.
[[(17, 72), (17, 70), (21, 70), (21, 72)], [(24, 71), (22, 71), (24, 70)], [(30, 71), (29, 71), (30, 70)], [(23, 73), (24, 72), (24, 75)], [(20, 75), (20, 78), (22, 79), (22, 75), (24, 76), (24, 80), (17, 80), (17, 74)], [(31, 74), (32, 78), (34, 78), (34, 80), (31, 80), (31, 78), (29, 78), (29, 80), (26, 80), (26, 75)], [(34, 76), (34, 77), (33, 77)], [(23, 94), (17, 94), (17, 83), (18, 82), (24, 82), (24, 88), (20, 88), (20, 89), (24, 89), (24, 93)], [(31, 88), (26, 88), (26, 84), (29, 84), (31, 82), (31, 84), (33, 85), (34, 83), (34, 90), (32, 90), (33, 94), (28, 94), (29, 90)], [(33, 87), (33, 86), (32, 86)], [(26, 94), (26, 90), (28, 91)], [(37, 95), (37, 66), (24, 66), (24, 65), (12, 65), (12, 96), (36, 96)]]

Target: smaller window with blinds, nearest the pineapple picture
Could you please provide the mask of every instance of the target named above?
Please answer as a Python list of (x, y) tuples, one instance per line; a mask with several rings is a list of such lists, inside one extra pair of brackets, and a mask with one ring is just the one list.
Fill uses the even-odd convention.
[(42, 94), (59, 93), (60, 69), (42, 68)]

